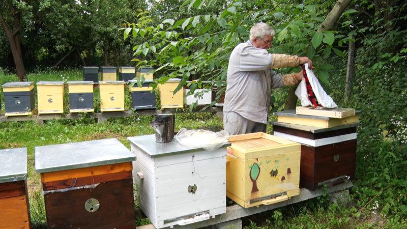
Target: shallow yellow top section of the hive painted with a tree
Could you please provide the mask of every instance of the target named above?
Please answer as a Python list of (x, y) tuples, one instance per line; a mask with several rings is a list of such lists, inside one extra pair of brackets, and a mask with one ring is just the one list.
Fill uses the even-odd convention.
[(300, 151), (300, 144), (262, 132), (229, 136), (229, 154), (244, 160)]

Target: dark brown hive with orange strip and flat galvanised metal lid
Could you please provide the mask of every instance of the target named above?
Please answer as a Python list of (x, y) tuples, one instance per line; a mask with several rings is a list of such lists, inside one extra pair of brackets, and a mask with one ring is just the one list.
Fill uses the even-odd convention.
[(117, 139), (35, 151), (48, 228), (135, 228), (135, 157)]

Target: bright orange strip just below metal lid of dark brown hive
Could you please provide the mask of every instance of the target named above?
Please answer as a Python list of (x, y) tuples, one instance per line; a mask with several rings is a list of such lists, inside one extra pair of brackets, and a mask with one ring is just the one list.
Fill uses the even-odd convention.
[(104, 174), (119, 173), (122, 171), (131, 171), (133, 165), (131, 162), (118, 164), (107, 164), (94, 167), (76, 168), (70, 170), (53, 171), (41, 174), (41, 182), (63, 181), (76, 178), (94, 177)]

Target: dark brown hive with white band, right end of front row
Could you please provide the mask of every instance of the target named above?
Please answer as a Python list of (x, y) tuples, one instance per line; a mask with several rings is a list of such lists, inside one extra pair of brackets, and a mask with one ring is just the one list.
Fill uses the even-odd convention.
[(272, 124), (274, 135), (301, 144), (301, 187), (315, 190), (355, 177), (358, 123), (333, 128)]

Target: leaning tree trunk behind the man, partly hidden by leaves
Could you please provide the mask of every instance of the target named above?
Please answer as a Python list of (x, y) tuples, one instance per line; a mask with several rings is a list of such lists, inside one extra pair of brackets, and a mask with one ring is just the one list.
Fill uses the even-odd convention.
[[(333, 30), (339, 17), (345, 11), (346, 7), (351, 3), (351, 0), (338, 0), (335, 6), (329, 12), (328, 16), (325, 18), (324, 22), (321, 24), (321, 28), (318, 29), (319, 32)], [(288, 91), (287, 99), (285, 100), (284, 110), (294, 109), (297, 105), (297, 96), (295, 95), (295, 89), (290, 89)]]

